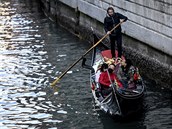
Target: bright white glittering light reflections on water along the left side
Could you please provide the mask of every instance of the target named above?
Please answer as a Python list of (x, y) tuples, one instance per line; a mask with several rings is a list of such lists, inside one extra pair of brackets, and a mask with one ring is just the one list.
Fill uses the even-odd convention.
[(57, 109), (51, 101), (45, 102), (46, 92), (39, 90), (39, 86), (48, 84), (46, 74), (41, 72), (47, 67), (41, 65), (46, 51), (37, 34), (39, 26), (32, 25), (34, 21), (25, 16), (28, 14), (20, 12), (25, 6), (20, 4), (0, 4), (1, 128), (34, 128), (42, 122), (53, 122), (49, 112)]

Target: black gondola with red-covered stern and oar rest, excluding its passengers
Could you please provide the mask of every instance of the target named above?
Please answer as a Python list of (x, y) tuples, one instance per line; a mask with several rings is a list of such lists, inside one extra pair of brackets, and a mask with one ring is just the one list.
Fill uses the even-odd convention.
[[(94, 42), (99, 38), (94, 34)], [(111, 57), (109, 47), (104, 43), (100, 43), (94, 48), (92, 54), (91, 66), (86, 65), (84, 58), (82, 66), (90, 69), (90, 86), (93, 94), (96, 109), (103, 111), (111, 117), (119, 120), (130, 116), (137, 116), (143, 110), (144, 100), (144, 83), (141, 82), (135, 89), (121, 89), (117, 85), (113, 85), (112, 92), (104, 97), (100, 90), (100, 84), (96, 82), (95, 76), (99, 64), (104, 62), (104, 56)], [(125, 57), (123, 57), (125, 58)]]

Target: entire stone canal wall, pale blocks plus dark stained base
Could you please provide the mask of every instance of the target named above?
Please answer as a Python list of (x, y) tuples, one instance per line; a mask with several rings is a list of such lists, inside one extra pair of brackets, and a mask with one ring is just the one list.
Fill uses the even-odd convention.
[[(89, 37), (90, 29), (104, 35), (106, 9), (129, 20), (122, 24), (125, 54), (150, 75), (172, 84), (172, 1), (170, 0), (40, 0), (46, 14), (69, 31)], [(137, 53), (137, 54), (136, 54)], [(147, 66), (149, 65), (149, 68)], [(151, 68), (152, 67), (152, 68)], [(160, 69), (160, 67), (163, 67)], [(154, 72), (151, 73), (151, 70)], [(157, 73), (156, 73), (157, 72)], [(169, 86), (169, 85), (168, 85)]]

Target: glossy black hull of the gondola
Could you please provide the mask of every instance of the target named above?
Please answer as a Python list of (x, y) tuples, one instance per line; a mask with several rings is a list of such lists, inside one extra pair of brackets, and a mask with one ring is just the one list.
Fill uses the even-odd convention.
[[(95, 42), (98, 41), (96, 35), (94, 35), (94, 40)], [(90, 83), (95, 100), (95, 107), (117, 120), (135, 116), (141, 113), (144, 109), (144, 85), (142, 85), (141, 92), (136, 92), (134, 95), (124, 95), (115, 88), (106, 98), (101, 96), (101, 92), (97, 88), (98, 83), (95, 79), (97, 71), (96, 67), (102, 60), (100, 53), (107, 49), (109, 48), (106, 45), (100, 43), (93, 50), (91, 68), (94, 70), (91, 70), (92, 72), (90, 72)]]

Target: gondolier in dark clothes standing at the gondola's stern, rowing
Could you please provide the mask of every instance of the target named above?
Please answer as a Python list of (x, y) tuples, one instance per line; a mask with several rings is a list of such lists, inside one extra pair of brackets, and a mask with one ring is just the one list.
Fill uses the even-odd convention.
[(112, 58), (115, 58), (115, 43), (117, 43), (118, 57), (122, 56), (122, 33), (121, 26), (117, 27), (112, 33), (110, 33), (110, 30), (120, 23), (120, 20), (127, 21), (127, 19), (126, 16), (116, 13), (112, 7), (107, 9), (107, 16), (104, 19), (104, 29), (106, 33), (110, 34)]

